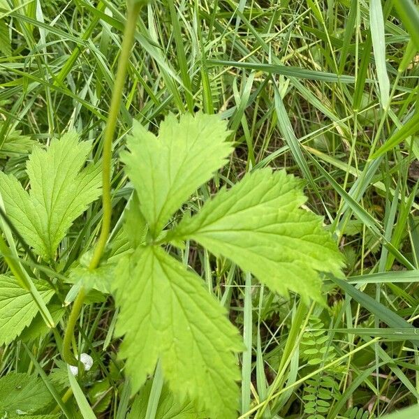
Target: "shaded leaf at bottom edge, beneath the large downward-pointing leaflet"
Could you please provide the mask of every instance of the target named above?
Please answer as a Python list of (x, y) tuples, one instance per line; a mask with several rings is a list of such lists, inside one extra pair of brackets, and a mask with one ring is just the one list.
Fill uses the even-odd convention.
[[(149, 402), (152, 381), (149, 380), (142, 386), (140, 392), (133, 402), (127, 419), (146, 419), (147, 404)], [(199, 413), (189, 400), (180, 402), (170, 392), (169, 386), (165, 383), (161, 389), (159, 406), (156, 410), (155, 419), (200, 419), (206, 418), (205, 413)]]

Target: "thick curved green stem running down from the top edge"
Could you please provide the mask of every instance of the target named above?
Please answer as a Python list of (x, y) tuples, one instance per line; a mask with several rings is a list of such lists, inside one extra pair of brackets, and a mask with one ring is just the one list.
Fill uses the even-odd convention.
[[(112, 139), (115, 135), (115, 129), (117, 126), (117, 118), (122, 101), (122, 94), (124, 91), (126, 68), (128, 67), (128, 59), (131, 54), (131, 47), (133, 45), (137, 17), (143, 4), (143, 1), (131, 1), (128, 5), (128, 16), (124, 30), (124, 37), (122, 40), (121, 54), (119, 55), (117, 75), (112, 92), (112, 100), (110, 102), (108, 121), (106, 122), (105, 132), (103, 134), (103, 219), (101, 234), (99, 235), (98, 242), (96, 243), (96, 247), (94, 248), (94, 253), (90, 261), (90, 270), (94, 270), (98, 266), (103, 251), (105, 250), (106, 242), (108, 241), (110, 232), (110, 221), (112, 216), (112, 202), (110, 198)], [(66, 332), (64, 334), (63, 358), (70, 365), (77, 365), (78, 363), (75, 356), (73, 355), (73, 352), (71, 351), (71, 340), (73, 339), (75, 323), (77, 322), (80, 311), (82, 310), (85, 296), (86, 291), (84, 288), (81, 288), (73, 304), (71, 314), (68, 317)]]

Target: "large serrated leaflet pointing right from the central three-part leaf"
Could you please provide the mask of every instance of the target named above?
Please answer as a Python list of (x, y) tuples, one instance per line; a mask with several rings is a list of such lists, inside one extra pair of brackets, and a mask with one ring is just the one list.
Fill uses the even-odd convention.
[(300, 208), (305, 200), (300, 180), (284, 170), (257, 170), (185, 216), (168, 239), (196, 240), (278, 293), (321, 302), (318, 272), (341, 277), (342, 256), (321, 217)]

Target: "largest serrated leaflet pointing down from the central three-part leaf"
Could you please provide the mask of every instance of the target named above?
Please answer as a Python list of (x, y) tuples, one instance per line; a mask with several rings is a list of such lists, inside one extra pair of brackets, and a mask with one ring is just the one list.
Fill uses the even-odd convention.
[(170, 388), (218, 418), (235, 418), (242, 344), (202, 280), (160, 247), (138, 247), (115, 272), (119, 355), (133, 391), (161, 359)]

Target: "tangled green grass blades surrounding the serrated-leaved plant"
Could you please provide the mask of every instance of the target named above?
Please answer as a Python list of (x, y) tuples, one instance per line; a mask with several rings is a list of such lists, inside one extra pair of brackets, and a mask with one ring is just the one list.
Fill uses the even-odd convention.
[[(113, 149), (114, 235), (131, 193), (118, 156), (133, 118), (155, 131), (168, 112), (204, 110), (228, 119), (235, 153), (190, 205), (246, 171), (286, 168), (346, 256), (348, 281), (325, 279), (328, 309), (302, 312), (297, 296), (273, 295), (187, 244), (189, 265), (251, 348), (239, 359), (240, 418), (372, 418), (419, 402), (416, 329), (406, 328), (419, 314), (417, 10), (403, 0), (161, 0), (142, 10)], [(75, 128), (101, 159), (125, 20), (124, 1), (0, 1), (0, 150), (13, 130), (46, 145)], [(1, 168), (25, 182), (26, 159), (17, 149)], [(96, 202), (43, 269), (65, 275), (100, 220)], [(81, 322), (105, 385), (96, 397), (86, 381), (80, 397), (98, 417), (124, 418), (112, 300), (88, 304)], [(1, 348), (1, 371), (50, 371), (61, 326)]]

